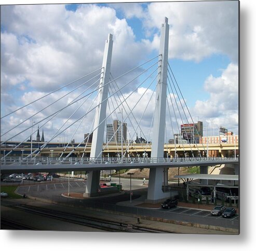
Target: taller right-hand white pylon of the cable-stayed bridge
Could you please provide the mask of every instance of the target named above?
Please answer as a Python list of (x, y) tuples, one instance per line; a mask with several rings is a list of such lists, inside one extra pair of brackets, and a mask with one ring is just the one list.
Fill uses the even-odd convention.
[[(164, 158), (165, 124), (166, 124), (166, 92), (167, 92), (167, 72), (168, 72), (168, 44), (169, 44), (169, 24), (165, 17), (164, 24), (161, 25), (161, 37), (159, 48), (158, 79), (156, 87), (156, 108), (153, 123), (152, 137), (152, 158)], [(165, 173), (165, 175), (164, 175)], [(166, 198), (162, 191), (163, 178), (167, 177), (167, 168), (150, 169), (149, 187), (147, 190), (147, 202), (157, 202)], [(165, 183), (165, 180), (164, 180)], [(167, 183), (168, 184), (168, 183)]]

